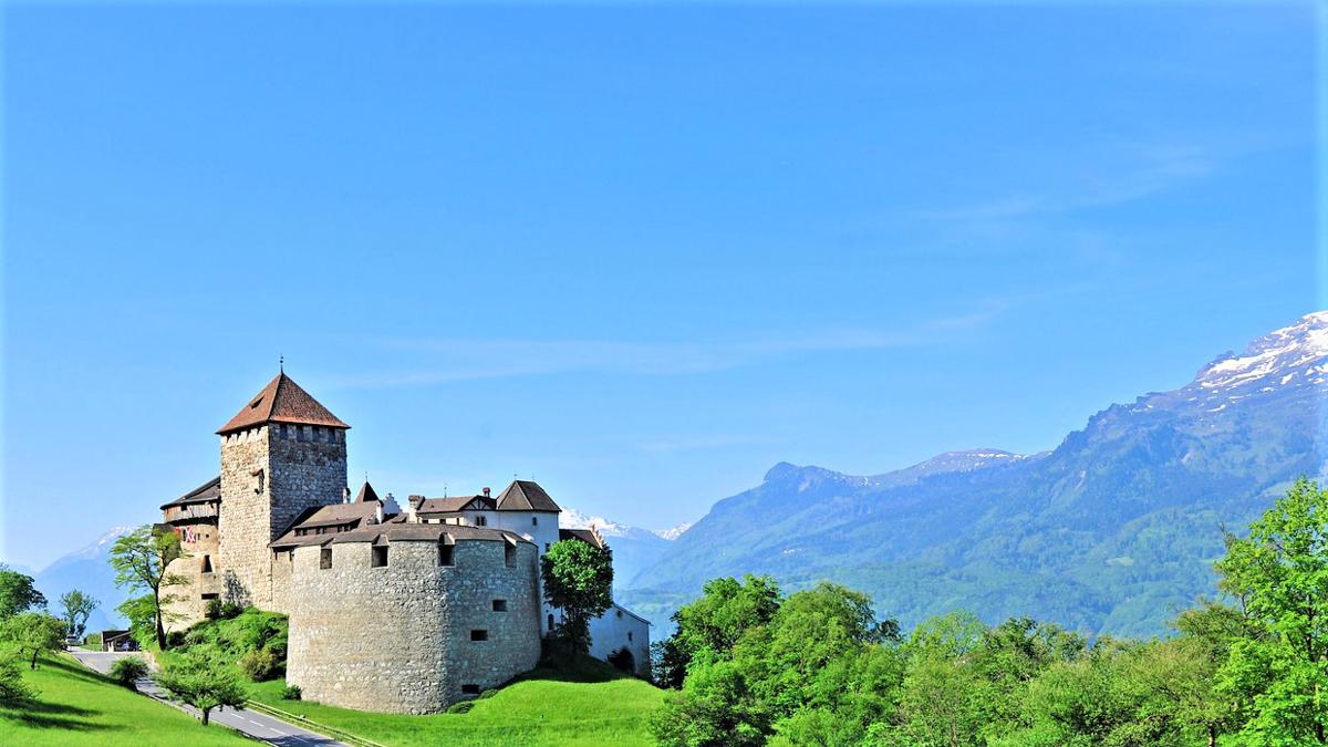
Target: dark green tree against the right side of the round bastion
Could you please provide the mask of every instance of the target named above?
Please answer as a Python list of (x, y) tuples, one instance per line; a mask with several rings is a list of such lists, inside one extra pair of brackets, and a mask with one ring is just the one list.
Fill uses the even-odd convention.
[(540, 558), (544, 598), (563, 613), (559, 633), (574, 654), (590, 651), (590, 621), (614, 605), (614, 557), (580, 540), (554, 542)]

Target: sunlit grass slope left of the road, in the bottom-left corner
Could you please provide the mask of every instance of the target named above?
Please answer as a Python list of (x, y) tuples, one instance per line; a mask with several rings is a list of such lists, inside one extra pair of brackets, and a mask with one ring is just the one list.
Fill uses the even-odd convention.
[(0, 706), (0, 744), (248, 744), (218, 724), (137, 695), (85, 669), (68, 654), (46, 657), (24, 681), (40, 690), (25, 706)]

